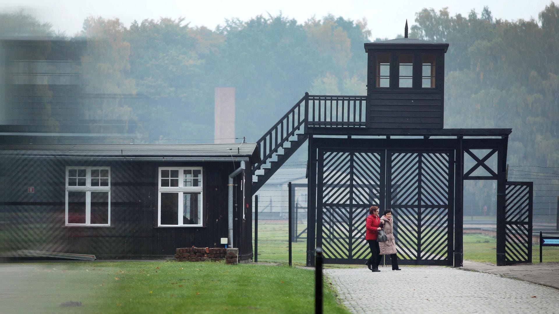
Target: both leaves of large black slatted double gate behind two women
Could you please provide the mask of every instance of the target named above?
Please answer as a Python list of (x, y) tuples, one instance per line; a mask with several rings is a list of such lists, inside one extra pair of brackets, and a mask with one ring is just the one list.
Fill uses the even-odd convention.
[(452, 265), (454, 151), (319, 149), (316, 244), (361, 264), (368, 208), (394, 211), (401, 264)]

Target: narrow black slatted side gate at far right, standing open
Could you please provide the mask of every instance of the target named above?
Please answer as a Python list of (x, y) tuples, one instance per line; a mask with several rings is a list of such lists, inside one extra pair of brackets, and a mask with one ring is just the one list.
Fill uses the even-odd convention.
[(532, 263), (532, 182), (506, 182), (505, 264)]

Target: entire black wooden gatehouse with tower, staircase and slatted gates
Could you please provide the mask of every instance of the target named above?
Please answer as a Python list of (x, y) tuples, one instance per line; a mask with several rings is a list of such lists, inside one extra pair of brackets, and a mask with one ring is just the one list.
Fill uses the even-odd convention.
[(317, 246), (325, 263), (364, 263), (377, 205), (394, 213), (400, 264), (462, 266), (464, 180), (497, 182), (498, 265), (530, 263), (532, 185), (506, 181), (511, 129), (444, 129), (448, 44), (409, 39), (406, 22), (364, 48), (367, 96), (305, 93), (257, 141), (253, 193), (308, 141), (307, 265)]

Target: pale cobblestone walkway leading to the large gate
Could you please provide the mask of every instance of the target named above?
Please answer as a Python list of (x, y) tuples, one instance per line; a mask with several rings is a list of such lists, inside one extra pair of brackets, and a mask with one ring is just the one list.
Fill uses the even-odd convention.
[(380, 273), (365, 267), (324, 272), (352, 313), (559, 313), (557, 263), (496, 267), (465, 262), (461, 269), (400, 268), (381, 267)]

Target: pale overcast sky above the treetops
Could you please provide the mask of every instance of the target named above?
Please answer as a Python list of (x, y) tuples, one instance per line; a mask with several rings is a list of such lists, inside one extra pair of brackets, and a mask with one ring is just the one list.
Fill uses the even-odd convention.
[(403, 34), (406, 18), (410, 26), (413, 25), (415, 13), (425, 7), (436, 11), (448, 7), (452, 16), (457, 13), (467, 16), (471, 9), (481, 13), (484, 6), (489, 6), (495, 18), (510, 21), (532, 17), (537, 20), (538, 13), (549, 3), (551, 0), (0, 0), (0, 9), (13, 12), (23, 8), (67, 35), (80, 31), (83, 20), (90, 15), (117, 17), (126, 27), (134, 20), (184, 17), (191, 26), (214, 30), (217, 25), (224, 25), (225, 19), (235, 17), (246, 21), (257, 15), (276, 16), (282, 12), (283, 16), (303, 23), (312, 16), (321, 18), (332, 14), (354, 21), (366, 18), (373, 40), (376, 37), (392, 39)]

